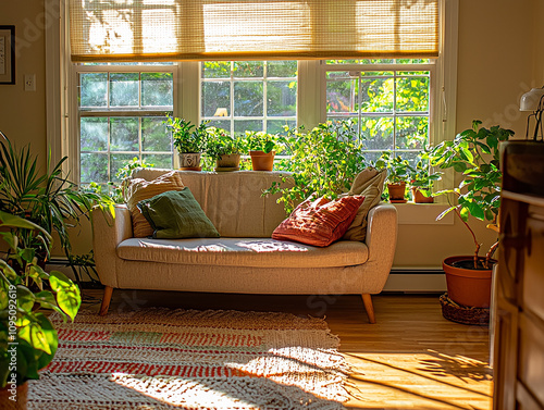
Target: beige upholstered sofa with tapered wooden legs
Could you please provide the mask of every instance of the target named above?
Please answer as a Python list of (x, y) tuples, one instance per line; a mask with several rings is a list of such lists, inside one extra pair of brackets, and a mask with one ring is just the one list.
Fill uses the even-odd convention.
[[(139, 169), (132, 177), (152, 181), (168, 170)], [(116, 206), (113, 223), (92, 213), (95, 259), (106, 285), (100, 314), (114, 288), (239, 294), (359, 294), (371, 323), (372, 294), (390, 274), (397, 236), (393, 206), (368, 216), (364, 241), (339, 240), (318, 248), (271, 239), (285, 219), (276, 196), (263, 197), (279, 173), (180, 171), (185, 186), (221, 234), (220, 238), (134, 238), (131, 213)]]

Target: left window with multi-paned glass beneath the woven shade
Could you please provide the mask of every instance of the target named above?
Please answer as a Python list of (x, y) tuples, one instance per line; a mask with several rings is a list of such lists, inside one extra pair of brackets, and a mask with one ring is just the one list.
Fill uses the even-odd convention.
[(78, 66), (82, 184), (118, 182), (118, 171), (135, 158), (172, 167), (172, 138), (164, 121), (173, 113), (174, 76), (159, 65), (164, 64)]

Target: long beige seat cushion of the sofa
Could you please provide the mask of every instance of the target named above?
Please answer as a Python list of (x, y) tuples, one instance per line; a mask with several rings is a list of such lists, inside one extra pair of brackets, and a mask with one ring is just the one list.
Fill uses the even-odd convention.
[(116, 249), (124, 260), (194, 265), (252, 268), (331, 268), (367, 262), (360, 241), (341, 240), (326, 248), (270, 238), (129, 238)]

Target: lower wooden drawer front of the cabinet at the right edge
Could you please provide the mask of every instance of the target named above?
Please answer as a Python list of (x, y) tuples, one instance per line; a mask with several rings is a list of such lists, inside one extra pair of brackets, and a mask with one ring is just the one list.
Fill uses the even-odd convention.
[(519, 320), (518, 378), (527, 390), (544, 403), (544, 322), (522, 313)]

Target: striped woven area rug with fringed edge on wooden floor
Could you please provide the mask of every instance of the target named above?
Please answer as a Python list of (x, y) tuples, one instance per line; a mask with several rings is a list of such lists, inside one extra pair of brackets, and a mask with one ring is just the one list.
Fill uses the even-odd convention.
[(147, 309), (53, 316), (28, 409), (342, 409), (347, 365), (320, 319)]

